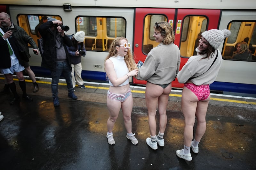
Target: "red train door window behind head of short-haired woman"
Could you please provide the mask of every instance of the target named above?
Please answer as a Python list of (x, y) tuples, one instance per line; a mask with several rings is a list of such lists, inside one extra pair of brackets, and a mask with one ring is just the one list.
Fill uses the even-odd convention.
[(142, 51), (146, 55), (153, 47), (156, 47), (158, 45), (153, 35), (155, 23), (160, 21), (167, 21), (167, 17), (164, 15), (147, 15), (144, 19)]

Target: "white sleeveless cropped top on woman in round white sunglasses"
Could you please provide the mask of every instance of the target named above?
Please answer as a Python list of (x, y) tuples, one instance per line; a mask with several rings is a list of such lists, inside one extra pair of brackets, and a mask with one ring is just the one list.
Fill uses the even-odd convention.
[[(125, 74), (129, 72), (126, 63), (124, 62), (124, 57), (121, 56), (112, 56), (109, 58), (114, 64), (114, 69), (116, 71), (117, 78), (123, 77)], [(108, 79), (108, 83), (110, 86), (114, 86), (111, 81)], [(124, 83), (118, 86), (129, 84), (129, 79), (126, 79)]]

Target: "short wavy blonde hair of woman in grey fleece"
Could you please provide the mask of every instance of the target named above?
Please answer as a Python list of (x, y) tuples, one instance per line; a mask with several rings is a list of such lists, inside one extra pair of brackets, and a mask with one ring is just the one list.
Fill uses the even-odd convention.
[(156, 22), (154, 28), (164, 36), (163, 44), (171, 44), (175, 40), (174, 31), (169, 22)]

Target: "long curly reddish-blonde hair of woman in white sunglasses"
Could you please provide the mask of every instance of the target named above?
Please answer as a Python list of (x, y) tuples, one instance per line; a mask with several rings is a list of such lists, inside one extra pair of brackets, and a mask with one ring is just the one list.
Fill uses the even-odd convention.
[[(117, 37), (114, 41), (112, 41), (112, 43), (109, 47), (108, 56), (104, 60), (104, 70), (105, 70), (106, 60), (108, 60), (112, 56), (117, 56), (118, 51), (116, 50), (116, 46), (121, 45), (120, 44), (121, 40), (126, 40), (128, 42), (128, 40), (124, 37)], [(137, 65), (136, 65), (136, 63), (133, 59), (133, 55), (131, 53), (130, 48), (128, 49), (127, 54), (124, 56), (124, 62), (126, 63), (129, 71), (132, 71), (134, 69), (138, 69), (138, 67), (137, 67)]]

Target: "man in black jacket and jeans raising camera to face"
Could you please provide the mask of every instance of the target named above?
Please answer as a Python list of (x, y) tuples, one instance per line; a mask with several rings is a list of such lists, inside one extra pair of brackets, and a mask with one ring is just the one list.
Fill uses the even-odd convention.
[(61, 29), (62, 21), (49, 18), (48, 21), (39, 26), (38, 31), (43, 39), (42, 67), (47, 68), (52, 74), (52, 97), (53, 105), (60, 106), (58, 97), (58, 83), (60, 75), (66, 79), (68, 97), (76, 100), (73, 92), (71, 79), (71, 62), (67, 47), (72, 46), (72, 41)]

